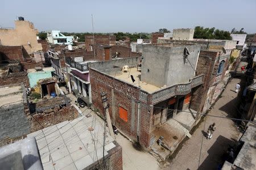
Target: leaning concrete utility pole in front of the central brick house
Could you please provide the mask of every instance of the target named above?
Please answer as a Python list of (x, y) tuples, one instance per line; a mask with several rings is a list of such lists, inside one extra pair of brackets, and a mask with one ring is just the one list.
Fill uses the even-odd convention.
[(107, 124), (108, 124), (110, 136), (115, 138), (113, 128), (112, 128), (112, 123), (111, 123), (111, 120), (110, 120), (110, 115), (109, 115), (109, 104), (106, 103), (106, 101), (108, 101), (108, 99), (107, 99), (107, 96), (106, 96), (105, 92), (101, 92), (101, 100), (102, 100), (103, 107), (104, 107), (104, 112), (105, 112), (104, 113), (104, 121), (106, 121)]

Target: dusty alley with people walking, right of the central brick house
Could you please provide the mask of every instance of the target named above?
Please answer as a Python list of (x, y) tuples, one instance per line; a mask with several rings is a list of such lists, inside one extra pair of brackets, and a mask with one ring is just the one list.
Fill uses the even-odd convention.
[[(221, 163), (221, 156), (226, 152), (229, 145), (233, 145), (240, 137), (234, 121), (228, 118), (212, 117), (236, 117), (239, 102), (234, 87), (241, 79), (233, 78), (226, 86), (220, 99), (213, 105), (204, 121), (199, 123), (197, 129), (188, 141), (183, 143), (171, 164), (165, 169), (217, 169)], [(241, 88), (242, 89), (242, 88)], [(217, 125), (212, 139), (204, 137), (210, 124)], [(200, 159), (200, 161), (199, 161)]]

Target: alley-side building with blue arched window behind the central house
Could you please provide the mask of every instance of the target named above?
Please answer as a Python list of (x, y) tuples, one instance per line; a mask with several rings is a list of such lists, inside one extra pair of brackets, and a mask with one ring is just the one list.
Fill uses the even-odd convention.
[(158, 39), (158, 45), (181, 44), (200, 45), (201, 50), (196, 67), (196, 74), (205, 74), (204, 88), (198, 89), (199, 94), (194, 97), (191, 108), (205, 113), (224, 90), (229, 73), (229, 57), (236, 50), (237, 41), (233, 40), (167, 40)]

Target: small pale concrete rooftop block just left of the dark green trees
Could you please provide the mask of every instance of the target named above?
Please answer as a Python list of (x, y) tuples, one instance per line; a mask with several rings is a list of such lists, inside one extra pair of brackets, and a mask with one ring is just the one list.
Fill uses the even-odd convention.
[(194, 31), (191, 28), (174, 29), (172, 40), (193, 40)]

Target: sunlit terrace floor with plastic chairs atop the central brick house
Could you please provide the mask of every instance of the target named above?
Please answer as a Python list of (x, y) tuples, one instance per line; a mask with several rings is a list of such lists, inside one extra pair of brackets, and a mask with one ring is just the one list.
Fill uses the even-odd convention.
[[(131, 80), (131, 75), (133, 75), (133, 78), (135, 79), (134, 83), (133, 83), (133, 80)], [(154, 86), (152, 84), (148, 84), (147, 82), (142, 82), (141, 80), (139, 80), (139, 76), (141, 76), (141, 72), (137, 71), (136, 67), (131, 67), (129, 68), (127, 73), (122, 72), (119, 75), (115, 75), (115, 78), (130, 84), (133, 84), (134, 86), (137, 86), (137, 87), (141, 86), (142, 90), (150, 93), (160, 89), (160, 87)]]

